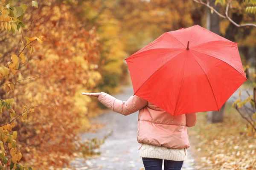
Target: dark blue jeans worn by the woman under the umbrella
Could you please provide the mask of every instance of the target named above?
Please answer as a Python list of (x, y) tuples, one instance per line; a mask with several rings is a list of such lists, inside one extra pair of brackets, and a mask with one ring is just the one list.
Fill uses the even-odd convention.
[[(142, 158), (145, 170), (162, 170), (163, 159)], [(164, 170), (180, 170), (183, 161), (164, 160)]]

